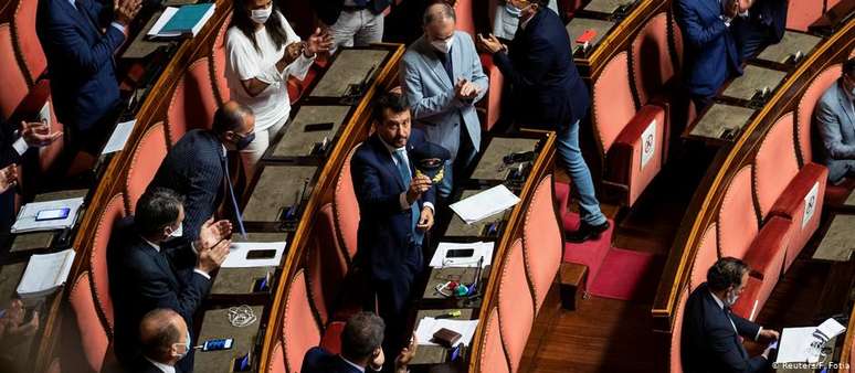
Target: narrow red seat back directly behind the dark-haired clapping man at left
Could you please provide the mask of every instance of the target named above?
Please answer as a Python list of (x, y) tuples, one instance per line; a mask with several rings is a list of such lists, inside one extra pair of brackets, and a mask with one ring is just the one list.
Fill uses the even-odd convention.
[(107, 247), (113, 235), (113, 227), (125, 217), (125, 205), (122, 193), (114, 195), (98, 216), (95, 227), (92, 251), (89, 252), (89, 270), (92, 270), (92, 288), (95, 294), (95, 305), (107, 320), (107, 333), (113, 335), (113, 299), (109, 296), (109, 274), (107, 273)]

